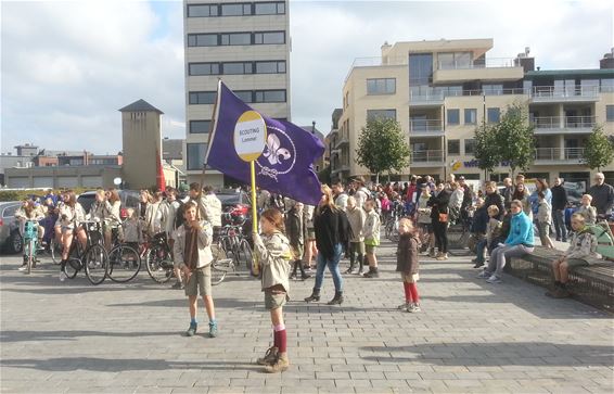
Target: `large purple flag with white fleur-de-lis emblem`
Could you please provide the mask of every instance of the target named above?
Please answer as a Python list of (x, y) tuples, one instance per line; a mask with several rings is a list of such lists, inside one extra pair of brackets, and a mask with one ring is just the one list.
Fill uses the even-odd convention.
[[(234, 127), (247, 111), (254, 110), (220, 80), (205, 163), (250, 185), (250, 163), (242, 161), (234, 149)], [(255, 163), (256, 185), (305, 204), (317, 205), (322, 193), (312, 163), (324, 153), (324, 145), (317, 137), (290, 122), (263, 118), (267, 125), (267, 139), (263, 154)]]

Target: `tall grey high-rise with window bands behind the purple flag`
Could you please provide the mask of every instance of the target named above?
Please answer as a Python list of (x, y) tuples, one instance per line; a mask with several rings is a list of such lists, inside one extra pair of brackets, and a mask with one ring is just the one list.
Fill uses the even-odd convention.
[[(267, 116), (290, 119), (289, 2), (184, 0), (186, 168), (201, 181), (219, 79)], [(205, 183), (230, 183), (206, 169)]]

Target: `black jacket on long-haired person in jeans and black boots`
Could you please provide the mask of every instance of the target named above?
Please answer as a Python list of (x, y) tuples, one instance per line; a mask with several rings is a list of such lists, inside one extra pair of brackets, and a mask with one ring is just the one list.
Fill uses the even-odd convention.
[(325, 258), (334, 257), (334, 246), (342, 244), (347, 250), (351, 240), (351, 228), (345, 212), (332, 211), (325, 206), (321, 212), (314, 214), (314, 230), (316, 231), (316, 245), (319, 253)]

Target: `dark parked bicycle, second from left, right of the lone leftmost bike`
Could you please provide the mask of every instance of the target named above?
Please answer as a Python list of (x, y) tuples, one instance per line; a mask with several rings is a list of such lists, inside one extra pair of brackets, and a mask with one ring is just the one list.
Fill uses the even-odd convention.
[[(108, 272), (108, 254), (102, 245), (100, 221), (81, 221), (79, 224), (86, 231), (87, 243), (85, 250), (77, 239), (76, 231), (68, 251), (68, 260), (64, 266), (64, 274), (74, 279), (77, 272), (85, 269), (86, 277), (92, 284), (100, 284), (106, 279)], [(92, 240), (92, 234), (95, 238)]]

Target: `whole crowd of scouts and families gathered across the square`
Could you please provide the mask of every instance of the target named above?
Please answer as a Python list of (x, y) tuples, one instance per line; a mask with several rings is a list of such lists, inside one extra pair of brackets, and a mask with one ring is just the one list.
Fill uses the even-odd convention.
[[(451, 225), (471, 232), (476, 252), (474, 267), (484, 268), (478, 277), (490, 283), (502, 281), (503, 267), (511, 257), (532, 253), (536, 238), (543, 246), (553, 247), (553, 226), (558, 241), (571, 242), (568, 250), (552, 263), (555, 287), (548, 295), (566, 296), (568, 268), (586, 265), (583, 258), (594, 255), (597, 242), (588, 226), (609, 218), (614, 205), (614, 188), (604, 183), (603, 174), (597, 174), (594, 181), (572, 217), (571, 237), (564, 220), (567, 195), (563, 179), (555, 179), (552, 188), (547, 180), (538, 179), (530, 193), (522, 175), (515, 181), (504, 179), (501, 189), (494, 181), (486, 182), (484, 192), (473, 190), (463, 177), (457, 179), (453, 175), (445, 181), (424, 176), (411, 177), (409, 182), (370, 186), (362, 177), (356, 177), (348, 185), (322, 186), (317, 206), (259, 190), (255, 202), (259, 232), (253, 233), (252, 240), (261, 268), (265, 306), (273, 326), (273, 346), (257, 363), (268, 372), (283, 371), (290, 364), (282, 313), (289, 300), (290, 280), (307, 280), (315, 269), (315, 284), (305, 302), (318, 302), (328, 268), (334, 284), (334, 297), (328, 304), (342, 304), (342, 258), (349, 260), (345, 275), (378, 278), (381, 230), (389, 220), (394, 220), (399, 234), (396, 271), (404, 284), (401, 310), (421, 310), (417, 287), (419, 255), (447, 260)], [(172, 288), (183, 289), (188, 296), (190, 326), (186, 334), (192, 336), (197, 331), (196, 306), (201, 295), (209, 320), (208, 334), (216, 336), (210, 265), (222, 209), (213, 188), (191, 183), (189, 195), (183, 199), (172, 188), (154, 193), (142, 190), (137, 207), (123, 208), (115, 189), (97, 190), (95, 202), (87, 213), (76, 194), (65, 191), (60, 196), (50, 193), (38, 202), (24, 201), (16, 216), (22, 220), (40, 220), (41, 243), (46, 240), (49, 245), (55, 237), (63, 246), (61, 280), (65, 279), (63, 268), (73, 238), (85, 245), (87, 238), (79, 226), (85, 220), (102, 225), (107, 249), (113, 242), (138, 247), (144, 239), (164, 233), (175, 262), (177, 281)]]

